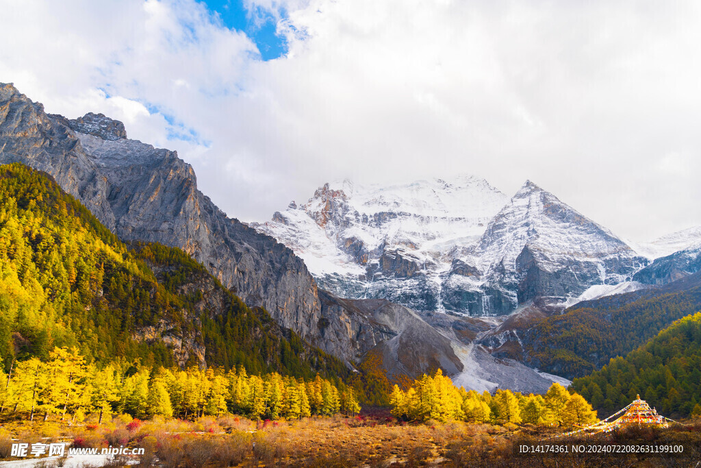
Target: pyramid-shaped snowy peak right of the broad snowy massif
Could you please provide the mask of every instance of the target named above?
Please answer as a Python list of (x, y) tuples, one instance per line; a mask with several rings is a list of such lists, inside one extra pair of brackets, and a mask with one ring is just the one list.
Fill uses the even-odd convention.
[[(647, 264), (627, 243), (531, 181), (489, 222), (472, 251), (493, 309), (554, 302), (627, 281)], [(485, 311), (487, 312), (487, 311)]]

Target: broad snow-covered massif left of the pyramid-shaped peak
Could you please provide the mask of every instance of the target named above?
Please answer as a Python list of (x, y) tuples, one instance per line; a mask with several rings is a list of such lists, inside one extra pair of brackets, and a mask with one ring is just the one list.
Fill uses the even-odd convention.
[(341, 297), (441, 310), (450, 272), (473, 274), (456, 256), (475, 245), (506, 200), (470, 175), (390, 187), (346, 180), (254, 227), (292, 248), (319, 285)]

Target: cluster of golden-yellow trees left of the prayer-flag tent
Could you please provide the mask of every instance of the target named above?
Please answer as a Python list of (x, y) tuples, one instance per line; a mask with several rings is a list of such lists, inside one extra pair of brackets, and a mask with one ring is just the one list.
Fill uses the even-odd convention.
[(404, 420), (463, 420), (491, 424), (547, 424), (563, 427), (591, 424), (597, 413), (583, 396), (558, 383), (543, 395), (510, 390), (466, 391), (456, 387), (439, 369), (433, 377), (422, 375), (407, 391), (395, 385), (390, 394), (392, 414)]

